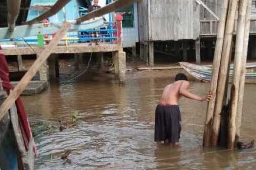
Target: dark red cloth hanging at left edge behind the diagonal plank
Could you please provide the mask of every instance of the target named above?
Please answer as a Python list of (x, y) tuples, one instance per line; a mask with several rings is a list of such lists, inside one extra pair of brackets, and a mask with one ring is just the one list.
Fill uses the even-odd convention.
[[(2, 86), (3, 86), (4, 90), (6, 90), (7, 94), (9, 94), (10, 90), (13, 90), (14, 87), (13, 87), (13, 85), (11, 85), (11, 82), (9, 79), (8, 64), (6, 61), (6, 57), (4, 56), (4, 51), (2, 50), (1, 45), (0, 45), (0, 77), (2, 80)], [(26, 111), (24, 109), (24, 106), (23, 106), (23, 103), (22, 103), (22, 100), (20, 97), (16, 100), (15, 104), (17, 107), (19, 124), (20, 124), (22, 137), (24, 139), (24, 145), (26, 147), (26, 150), (28, 150), (30, 138), (33, 137), (31, 128), (30, 128), (30, 124), (28, 122), (28, 116), (26, 114)], [(34, 144), (34, 152), (37, 155), (35, 144)]]

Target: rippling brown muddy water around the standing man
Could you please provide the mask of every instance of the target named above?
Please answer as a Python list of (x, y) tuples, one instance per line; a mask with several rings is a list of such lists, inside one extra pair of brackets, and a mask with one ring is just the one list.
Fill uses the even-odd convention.
[[(154, 143), (154, 110), (170, 78), (134, 78), (126, 86), (113, 81), (78, 81), (51, 85), (37, 96), (24, 96), (30, 119), (54, 121), (78, 111), (77, 127), (35, 137), (36, 169), (255, 169), (256, 150), (203, 149), (206, 103), (182, 98), (180, 147)], [(190, 90), (208, 91), (208, 83), (192, 83)], [(245, 89), (242, 138), (256, 139), (256, 85)], [(72, 150), (69, 160), (60, 159)]]

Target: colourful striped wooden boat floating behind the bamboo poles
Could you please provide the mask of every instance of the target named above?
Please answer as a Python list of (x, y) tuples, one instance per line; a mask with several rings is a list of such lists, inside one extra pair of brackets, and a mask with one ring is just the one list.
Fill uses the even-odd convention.
[[(209, 82), (211, 80), (211, 65), (196, 65), (187, 62), (180, 62), (180, 66), (198, 80), (202, 80), (204, 82)], [(233, 69), (234, 65), (232, 64), (230, 65), (230, 77), (233, 76)], [(245, 78), (256, 79), (256, 63), (247, 63)]]

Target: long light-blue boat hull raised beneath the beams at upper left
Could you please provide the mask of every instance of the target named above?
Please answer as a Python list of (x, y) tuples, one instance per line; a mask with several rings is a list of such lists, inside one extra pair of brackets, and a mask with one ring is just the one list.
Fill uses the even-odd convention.
[[(69, 32), (75, 32), (78, 30), (94, 29), (104, 26), (104, 18), (98, 17), (82, 23), (77, 24), (76, 21), (68, 21), (72, 23)], [(0, 40), (2, 39), (14, 39), (21, 37), (37, 36), (38, 34), (52, 34), (56, 33), (63, 25), (62, 22), (50, 23), (50, 24), (33, 24), (33, 25), (20, 25), (16, 26), (15, 30), (10, 32), (7, 27), (0, 28)]]

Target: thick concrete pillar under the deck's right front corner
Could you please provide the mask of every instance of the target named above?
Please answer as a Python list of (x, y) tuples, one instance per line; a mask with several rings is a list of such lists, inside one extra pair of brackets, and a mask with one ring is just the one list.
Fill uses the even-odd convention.
[(115, 78), (119, 80), (119, 83), (124, 84), (126, 80), (126, 53), (123, 51), (114, 51), (112, 54)]

